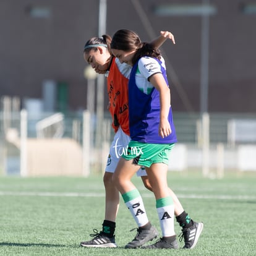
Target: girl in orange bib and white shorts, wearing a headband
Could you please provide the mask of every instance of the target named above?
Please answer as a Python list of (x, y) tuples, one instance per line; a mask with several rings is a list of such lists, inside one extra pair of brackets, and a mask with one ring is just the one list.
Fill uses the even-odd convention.
[[(159, 47), (167, 38), (173, 43), (174, 36), (170, 32), (161, 32), (151, 44)], [(93, 239), (81, 242), (85, 247), (116, 247), (114, 231), (116, 227), (116, 215), (119, 207), (119, 192), (114, 187), (112, 177), (119, 161), (118, 152), (122, 152), (122, 148), (126, 148), (130, 141), (129, 132), (129, 114), (128, 114), (128, 79), (131, 66), (114, 58), (110, 49), (111, 37), (103, 35), (101, 38), (95, 37), (87, 41), (85, 44), (83, 57), (96, 72), (104, 74), (106, 72), (109, 95), (109, 111), (113, 117), (113, 129), (116, 132), (113, 143), (109, 151), (109, 157), (105, 169), (103, 181), (105, 184), (106, 202), (105, 202), (105, 220), (103, 221), (103, 229), (98, 233), (92, 234)], [(117, 147), (118, 146), (118, 147)], [(151, 190), (150, 183), (145, 171), (140, 170), (137, 173), (142, 177), (145, 187)], [(172, 190), (169, 193), (174, 200), (175, 214), (182, 228), (187, 225), (190, 218), (182, 208), (181, 203), (177, 199)], [(155, 229), (154, 236), (156, 235)], [(140, 234), (140, 229), (138, 230)]]

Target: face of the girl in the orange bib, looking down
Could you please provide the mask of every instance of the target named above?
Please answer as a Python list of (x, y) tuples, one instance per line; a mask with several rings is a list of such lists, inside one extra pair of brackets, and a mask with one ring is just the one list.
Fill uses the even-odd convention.
[(98, 46), (96, 51), (92, 49), (88, 53), (83, 53), (83, 59), (85, 59), (85, 62), (91, 65), (96, 72), (102, 72), (108, 69), (111, 54), (106, 47)]

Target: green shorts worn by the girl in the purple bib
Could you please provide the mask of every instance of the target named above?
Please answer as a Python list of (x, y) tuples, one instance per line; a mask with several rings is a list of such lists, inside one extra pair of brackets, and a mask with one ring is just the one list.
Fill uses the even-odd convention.
[(122, 155), (126, 160), (133, 159), (134, 164), (150, 167), (153, 163), (169, 163), (169, 153), (175, 143), (151, 144), (130, 141), (127, 151)]

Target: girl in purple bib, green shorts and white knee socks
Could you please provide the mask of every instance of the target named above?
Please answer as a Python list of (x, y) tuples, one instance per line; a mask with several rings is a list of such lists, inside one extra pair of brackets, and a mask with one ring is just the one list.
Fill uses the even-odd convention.
[[(177, 142), (171, 110), (171, 96), (166, 78), (164, 60), (157, 49), (142, 43), (130, 30), (117, 31), (111, 42), (111, 51), (119, 61), (132, 66), (129, 78), (129, 130), (127, 155), (117, 164), (113, 181), (138, 225), (135, 239), (126, 248), (140, 247), (155, 237), (148, 221), (139, 190), (131, 182), (140, 166), (145, 166), (156, 198), (156, 210), (163, 237), (145, 248), (177, 249), (174, 231), (174, 203), (170, 196), (167, 172), (168, 158)], [(184, 248), (193, 248), (203, 229), (183, 211), (182, 234)]]

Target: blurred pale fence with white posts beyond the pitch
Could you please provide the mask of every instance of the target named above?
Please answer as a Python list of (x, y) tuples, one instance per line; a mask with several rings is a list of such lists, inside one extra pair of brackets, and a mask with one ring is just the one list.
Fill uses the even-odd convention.
[[(98, 119), (90, 111), (46, 113), (36, 104), (21, 110), (17, 106), (19, 98), (2, 98), (1, 174), (103, 173), (114, 135), (107, 112), (97, 129)], [(256, 171), (255, 114), (174, 111), (174, 122), (179, 142), (171, 153), (170, 171), (197, 169), (220, 178), (224, 171)]]

